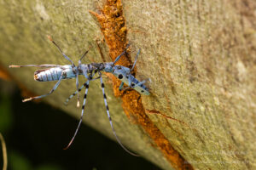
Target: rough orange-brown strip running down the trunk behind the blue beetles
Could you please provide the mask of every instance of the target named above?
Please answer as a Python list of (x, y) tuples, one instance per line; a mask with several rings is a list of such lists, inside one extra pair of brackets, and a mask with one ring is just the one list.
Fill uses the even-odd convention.
[[(101, 31), (108, 44), (109, 55), (114, 60), (125, 50), (127, 44), (127, 29), (125, 27), (125, 17), (123, 15), (121, 1), (107, 0), (104, 7), (100, 10), (100, 14), (93, 11), (90, 11), (90, 14), (96, 16), (96, 19), (100, 23)], [(125, 56), (121, 57), (117, 65), (130, 67), (132, 65), (130, 54), (126, 53)], [(125, 114), (128, 117), (132, 116), (136, 119), (137, 123), (154, 140), (154, 143), (160, 148), (163, 155), (172, 164), (172, 167), (176, 169), (193, 169), (189, 162), (185, 161), (177, 150), (174, 150), (168, 139), (166, 139), (164, 134), (154, 125), (154, 122), (146, 115), (140, 94), (135, 90), (119, 92), (120, 81), (113, 76), (110, 78), (113, 81), (114, 95), (120, 96), (123, 101), (122, 106)]]

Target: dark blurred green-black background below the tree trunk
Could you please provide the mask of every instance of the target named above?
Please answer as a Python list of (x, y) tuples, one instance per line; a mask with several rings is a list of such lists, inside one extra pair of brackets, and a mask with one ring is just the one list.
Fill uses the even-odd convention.
[[(43, 102), (22, 103), (21, 99), (15, 83), (0, 79), (0, 132), (7, 145), (9, 170), (160, 169), (130, 156), (119, 144), (85, 125), (73, 145), (63, 150), (78, 120)], [(2, 168), (2, 148), (0, 162)]]

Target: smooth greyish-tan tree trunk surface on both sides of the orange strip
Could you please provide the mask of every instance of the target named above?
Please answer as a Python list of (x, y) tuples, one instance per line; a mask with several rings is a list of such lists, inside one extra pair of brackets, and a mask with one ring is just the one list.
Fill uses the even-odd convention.
[[(151, 120), (195, 169), (256, 169), (256, 3), (253, 1), (123, 1), (137, 77), (150, 78), (142, 96)], [(96, 39), (102, 34), (88, 10), (97, 1), (0, 1), (0, 62), (9, 65), (69, 64), (46, 35), (75, 63), (102, 62)], [(108, 48), (104, 47), (107, 60)], [(55, 82), (35, 82), (35, 68), (9, 69), (35, 94)], [(85, 81), (80, 78), (80, 84)], [(125, 116), (107, 82), (108, 105), (122, 142), (163, 169), (172, 169), (140, 126)], [(79, 118), (75, 80), (65, 80), (45, 98)], [(83, 95), (82, 95), (83, 96)], [(91, 82), (84, 122), (113, 139), (99, 82)], [(180, 122), (166, 118), (172, 116)], [(38, 116), (39, 117), (39, 116)], [(83, 132), (79, 132), (83, 133)], [(86, 135), (86, 134), (83, 134)]]

